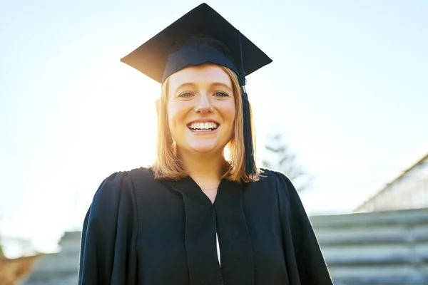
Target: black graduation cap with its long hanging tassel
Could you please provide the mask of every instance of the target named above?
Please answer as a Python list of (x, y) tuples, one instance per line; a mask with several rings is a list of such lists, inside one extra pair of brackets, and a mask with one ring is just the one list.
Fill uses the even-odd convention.
[(272, 60), (207, 4), (200, 4), (121, 59), (158, 83), (186, 66), (215, 63), (234, 71), (243, 88), (245, 173), (255, 174), (245, 76)]

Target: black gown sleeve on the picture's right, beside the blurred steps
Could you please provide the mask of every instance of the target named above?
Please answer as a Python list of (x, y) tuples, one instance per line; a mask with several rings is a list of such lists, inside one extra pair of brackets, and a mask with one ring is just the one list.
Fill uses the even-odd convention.
[(282, 244), (291, 284), (333, 284), (309, 217), (292, 182), (277, 174)]

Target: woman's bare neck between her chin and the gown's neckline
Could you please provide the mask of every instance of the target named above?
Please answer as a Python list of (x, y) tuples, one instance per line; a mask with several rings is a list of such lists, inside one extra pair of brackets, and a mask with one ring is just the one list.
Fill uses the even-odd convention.
[(178, 158), (181, 167), (203, 189), (218, 187), (227, 165), (222, 153), (208, 155), (179, 151)]

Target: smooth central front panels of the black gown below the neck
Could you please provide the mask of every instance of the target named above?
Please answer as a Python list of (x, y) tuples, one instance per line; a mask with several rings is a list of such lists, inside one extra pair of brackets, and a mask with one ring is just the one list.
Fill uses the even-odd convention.
[(253, 246), (242, 200), (245, 185), (221, 180), (214, 204), (190, 176), (170, 186), (183, 196), (190, 284), (254, 284)]

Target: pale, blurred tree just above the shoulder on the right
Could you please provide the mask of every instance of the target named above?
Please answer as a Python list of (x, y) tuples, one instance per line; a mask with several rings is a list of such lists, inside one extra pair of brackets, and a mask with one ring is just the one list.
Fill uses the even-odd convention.
[(312, 177), (302, 170), (296, 162), (296, 155), (290, 151), (282, 133), (269, 135), (265, 145), (263, 167), (282, 172), (295, 185), (297, 191), (310, 187)]

